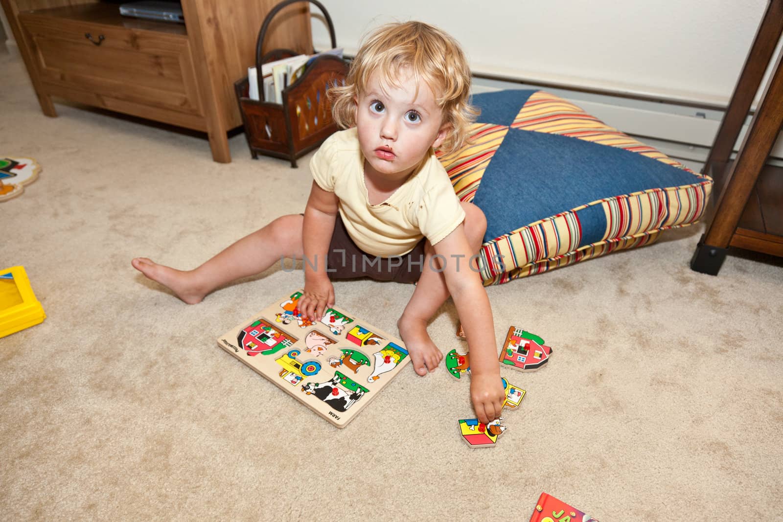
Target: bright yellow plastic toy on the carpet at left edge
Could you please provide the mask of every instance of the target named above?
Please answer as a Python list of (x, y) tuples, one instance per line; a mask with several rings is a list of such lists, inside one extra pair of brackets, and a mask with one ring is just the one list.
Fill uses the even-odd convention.
[(24, 267), (0, 270), (0, 337), (5, 337), (46, 319), (35, 298)]

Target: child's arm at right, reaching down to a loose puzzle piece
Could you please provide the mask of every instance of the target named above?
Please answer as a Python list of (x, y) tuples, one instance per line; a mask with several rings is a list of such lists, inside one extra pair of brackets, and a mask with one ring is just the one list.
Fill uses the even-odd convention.
[(495, 326), (489, 297), (475, 267), (468, 265), (471, 247), (464, 225), (435, 244), (435, 254), (446, 258), (441, 263), (471, 353), (471, 401), (478, 420), (492, 422), (500, 416), (505, 392), (497, 361)]

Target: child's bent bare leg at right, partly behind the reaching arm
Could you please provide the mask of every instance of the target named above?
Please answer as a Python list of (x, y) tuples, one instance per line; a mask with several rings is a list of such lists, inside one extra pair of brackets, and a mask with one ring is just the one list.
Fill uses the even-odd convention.
[[(465, 211), (465, 236), (471, 245), (472, 252), (478, 252), (484, 240), (486, 231), (486, 218), (484, 213), (473, 203), (462, 203)], [(449, 289), (446, 287), (446, 278), (442, 272), (431, 270), (430, 262), (435, 250), (428, 242), (424, 257), (424, 269), (421, 278), (413, 290), (408, 306), (402, 312), (402, 317), (397, 322), (399, 335), (405, 342), (413, 361), (413, 369), (419, 375), (426, 375), (428, 370), (434, 370), (440, 364), (443, 354), (427, 333), (427, 323), (435, 315), (435, 311), (449, 298)], [(456, 262), (456, 260), (447, 260)], [(475, 268), (475, 263), (474, 263)], [(460, 270), (470, 270), (467, 260), (460, 259)]]

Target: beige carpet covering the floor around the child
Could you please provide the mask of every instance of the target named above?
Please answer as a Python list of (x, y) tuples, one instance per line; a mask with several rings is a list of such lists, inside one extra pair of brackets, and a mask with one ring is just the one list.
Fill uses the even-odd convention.
[[(297, 288), (270, 269), (187, 306), (130, 265), (190, 268), (304, 208), (309, 157), (233, 163), (204, 139), (57, 105), (0, 55), (2, 150), (40, 178), (0, 203), (0, 268), (24, 265), (48, 315), (0, 339), (2, 520), (528, 520), (542, 491), (599, 520), (781, 520), (783, 263), (691, 272), (702, 225), (489, 289), (498, 341), (554, 347), (497, 448), (456, 419), (468, 383), (410, 367), (345, 430), (215, 343)], [(411, 286), (337, 283), (396, 332)], [(464, 347), (446, 304), (430, 332)]]

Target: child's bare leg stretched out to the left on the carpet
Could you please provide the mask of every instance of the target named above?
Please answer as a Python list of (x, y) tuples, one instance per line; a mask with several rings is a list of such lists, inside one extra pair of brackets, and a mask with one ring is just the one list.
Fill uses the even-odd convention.
[(218, 286), (264, 272), (283, 256), (301, 258), (303, 220), (299, 214), (277, 218), (194, 270), (158, 265), (146, 257), (136, 257), (131, 265), (153, 281), (167, 286), (182, 301), (196, 304)]

